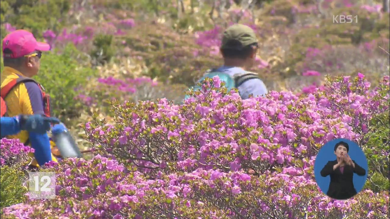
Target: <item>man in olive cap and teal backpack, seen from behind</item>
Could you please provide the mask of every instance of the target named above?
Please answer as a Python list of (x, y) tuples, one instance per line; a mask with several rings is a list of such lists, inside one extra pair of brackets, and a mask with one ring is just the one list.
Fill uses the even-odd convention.
[[(224, 65), (217, 69), (210, 69), (198, 82), (205, 78), (218, 76), (225, 82), (228, 90), (237, 88), (241, 99), (248, 99), (267, 94), (267, 88), (256, 73), (246, 69), (255, 63), (256, 52), (259, 48), (255, 32), (246, 25), (232, 25), (223, 33), (220, 51), (224, 59)], [(191, 89), (200, 89), (198, 85)], [(184, 99), (190, 96), (186, 95)]]

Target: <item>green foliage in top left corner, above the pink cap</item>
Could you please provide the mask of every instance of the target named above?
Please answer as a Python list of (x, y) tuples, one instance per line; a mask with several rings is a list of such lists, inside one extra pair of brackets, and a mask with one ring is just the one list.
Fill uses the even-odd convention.
[(11, 23), (41, 37), (44, 30), (62, 29), (71, 3), (67, 0), (2, 0), (1, 6), (1, 23)]

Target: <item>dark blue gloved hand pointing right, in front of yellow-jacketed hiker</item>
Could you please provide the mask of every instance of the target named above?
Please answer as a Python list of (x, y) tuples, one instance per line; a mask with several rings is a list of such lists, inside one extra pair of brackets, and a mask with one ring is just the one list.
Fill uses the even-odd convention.
[(20, 115), (20, 130), (44, 134), (50, 131), (51, 123), (58, 124), (60, 120), (54, 117), (44, 117), (42, 115)]

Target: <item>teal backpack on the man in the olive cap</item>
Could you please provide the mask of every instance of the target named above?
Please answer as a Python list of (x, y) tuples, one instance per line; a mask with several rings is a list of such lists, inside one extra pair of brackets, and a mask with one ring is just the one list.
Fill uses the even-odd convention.
[[(214, 76), (218, 76), (221, 81), (225, 82), (225, 87), (227, 88), (228, 91), (230, 91), (233, 88), (238, 88), (245, 81), (248, 81), (250, 79), (259, 78), (259, 76), (257, 74), (252, 73), (252, 72), (243, 72), (243, 73), (238, 73), (238, 74), (234, 74), (233, 76), (231, 76), (230, 74), (227, 74), (225, 72), (218, 72), (215, 70), (216, 69), (211, 69), (211, 70), (207, 71), (206, 74), (202, 78), (200, 78), (197, 83), (199, 83), (199, 82), (202, 83), (202, 81), (204, 81), (204, 79), (206, 79), (206, 78), (213, 78)], [(201, 87), (199, 85), (194, 85), (194, 86), (190, 87), (190, 89), (200, 90)], [(190, 96), (188, 96), (186, 94), (186, 96), (184, 97), (184, 100), (188, 99), (189, 97)]]

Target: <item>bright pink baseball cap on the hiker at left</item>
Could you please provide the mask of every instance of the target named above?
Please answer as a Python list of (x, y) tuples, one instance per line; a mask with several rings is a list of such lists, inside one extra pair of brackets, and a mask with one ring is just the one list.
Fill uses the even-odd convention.
[[(5, 54), (4, 49), (10, 49), (12, 53)], [(15, 30), (3, 39), (3, 57), (5, 58), (20, 58), (36, 50), (48, 51), (50, 45), (45, 42), (37, 42), (34, 35), (27, 30)]]

